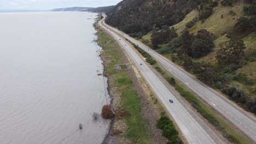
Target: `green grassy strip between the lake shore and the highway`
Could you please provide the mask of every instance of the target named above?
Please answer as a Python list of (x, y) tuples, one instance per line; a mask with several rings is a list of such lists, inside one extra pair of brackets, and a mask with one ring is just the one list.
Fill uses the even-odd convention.
[[(121, 54), (114, 41), (98, 29), (98, 44), (103, 47), (102, 57), (105, 59), (105, 73), (112, 79), (112, 88), (121, 95), (122, 109), (128, 113), (124, 117), (127, 131), (124, 134), (132, 143), (150, 143), (147, 122), (141, 116), (141, 105), (132, 81), (126, 71), (114, 69), (114, 65), (123, 63)], [(118, 113), (117, 113), (118, 116)]]

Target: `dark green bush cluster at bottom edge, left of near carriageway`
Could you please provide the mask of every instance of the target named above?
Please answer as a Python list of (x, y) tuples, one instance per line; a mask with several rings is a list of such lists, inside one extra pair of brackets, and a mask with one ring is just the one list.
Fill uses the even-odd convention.
[(162, 115), (159, 119), (156, 127), (162, 130), (162, 136), (168, 139), (167, 143), (176, 143), (181, 144), (183, 143), (182, 140), (178, 136), (178, 131), (174, 127), (171, 119)]

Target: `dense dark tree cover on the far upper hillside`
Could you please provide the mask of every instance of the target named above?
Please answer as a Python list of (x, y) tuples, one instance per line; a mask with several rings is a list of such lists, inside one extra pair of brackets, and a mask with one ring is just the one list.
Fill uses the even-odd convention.
[(107, 15), (106, 22), (129, 33), (132, 37), (142, 37), (153, 29), (172, 26), (182, 21), (200, 3), (209, 0), (124, 0)]

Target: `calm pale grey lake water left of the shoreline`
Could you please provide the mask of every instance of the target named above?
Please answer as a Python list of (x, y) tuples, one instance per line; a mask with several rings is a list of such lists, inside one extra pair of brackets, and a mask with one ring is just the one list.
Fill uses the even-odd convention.
[(106, 104), (96, 16), (0, 13), (1, 144), (102, 142), (110, 121), (91, 116)]

